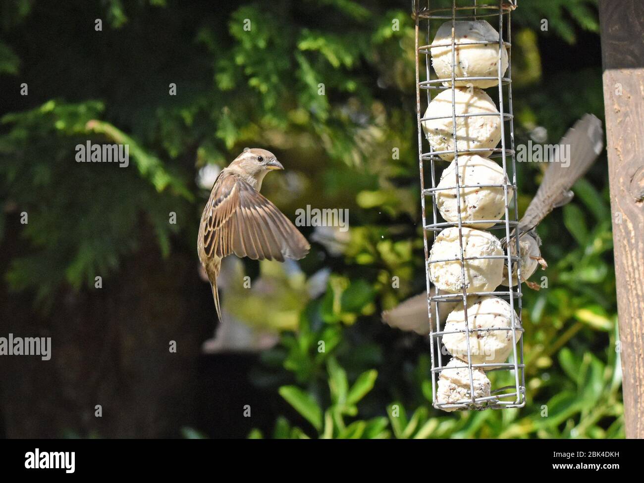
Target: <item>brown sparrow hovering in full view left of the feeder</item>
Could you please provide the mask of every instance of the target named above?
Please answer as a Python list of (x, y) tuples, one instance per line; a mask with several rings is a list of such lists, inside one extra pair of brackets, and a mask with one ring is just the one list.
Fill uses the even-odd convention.
[(307, 239), (268, 199), (261, 196), (267, 172), (284, 169), (272, 152), (245, 149), (214, 181), (199, 225), (197, 251), (213, 288), (214, 307), (222, 319), (217, 276), (222, 259), (234, 253), (253, 260), (299, 260)]

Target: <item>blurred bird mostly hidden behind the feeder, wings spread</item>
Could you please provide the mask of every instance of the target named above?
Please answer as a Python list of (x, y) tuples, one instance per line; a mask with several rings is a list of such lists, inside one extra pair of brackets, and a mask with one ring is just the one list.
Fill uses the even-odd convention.
[[(559, 145), (570, 146), (570, 162), (564, 164), (554, 159), (551, 160), (554, 162), (548, 163), (544, 179), (535, 197), (527, 207), (526, 213), (518, 223), (522, 282), (526, 282), (527, 278), (535, 272), (537, 264), (540, 264), (543, 268), (547, 266), (538, 249), (541, 245), (541, 239), (536, 234), (536, 226), (554, 208), (564, 206), (573, 199), (573, 192), (570, 188), (591, 167), (603, 149), (601, 121), (592, 114), (585, 114), (565, 133), (564, 137), (559, 141)], [(514, 236), (515, 233), (513, 232), (510, 239), (513, 252), (516, 251)], [(502, 239), (502, 244), (506, 246), (506, 239)], [(525, 271), (524, 268), (526, 268)], [(502, 284), (508, 286), (509, 283), (507, 266), (504, 266)], [(533, 289), (538, 287), (537, 284), (526, 283)], [(513, 264), (512, 284), (513, 286), (516, 285), (516, 264)], [(434, 295), (434, 287), (431, 287), (431, 295)], [(439, 305), (447, 304), (442, 303)], [(431, 314), (433, 315), (434, 313), (432, 307)], [(444, 321), (442, 310), (440, 318)], [(383, 320), (392, 327), (398, 327), (403, 330), (410, 330), (411, 328), (417, 333), (429, 334), (432, 321), (431, 315), (428, 317), (426, 294), (416, 295), (393, 309), (383, 312)], [(426, 320), (426, 322), (420, 322), (422, 320)]]

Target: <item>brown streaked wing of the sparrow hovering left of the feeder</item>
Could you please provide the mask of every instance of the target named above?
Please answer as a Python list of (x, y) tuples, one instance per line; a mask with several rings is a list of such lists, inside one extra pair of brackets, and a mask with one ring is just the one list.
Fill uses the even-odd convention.
[(310, 248), (277, 206), (230, 174), (222, 174), (215, 182), (201, 223), (207, 257), (234, 253), (283, 262), (305, 257)]

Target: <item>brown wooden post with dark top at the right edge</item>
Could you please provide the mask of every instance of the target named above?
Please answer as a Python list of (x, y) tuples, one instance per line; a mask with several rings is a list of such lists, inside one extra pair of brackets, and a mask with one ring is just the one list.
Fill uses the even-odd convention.
[(644, 2), (600, 0), (627, 438), (644, 438)]

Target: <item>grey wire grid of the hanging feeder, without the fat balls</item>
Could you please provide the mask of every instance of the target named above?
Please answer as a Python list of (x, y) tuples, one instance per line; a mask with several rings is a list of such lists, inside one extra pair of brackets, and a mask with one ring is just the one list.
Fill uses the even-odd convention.
[[(422, 3), (422, 6), (421, 6)], [(524, 333), (521, 324), (522, 316), (522, 292), (521, 284), (518, 283), (515, 287), (507, 287), (507, 289), (498, 289), (491, 291), (467, 291), (466, 287), (466, 262), (471, 260), (504, 260), (504, 266), (507, 268), (508, 273), (513, 273), (513, 268), (516, 268), (517, 280), (520, 280), (521, 273), (521, 260), (518, 254), (520, 253), (518, 237), (511, 237), (511, 233), (518, 226), (518, 204), (517, 204), (517, 189), (516, 189), (516, 160), (515, 160), (515, 140), (514, 140), (514, 125), (513, 125), (513, 107), (512, 107), (512, 63), (511, 63), (511, 28), (510, 28), (510, 15), (511, 11), (516, 8), (516, 0), (502, 1), (492, 5), (493, 2), (489, 1), (485, 5), (477, 5), (477, 0), (452, 0), (451, 7), (444, 6), (438, 8), (431, 7), (432, 0), (413, 0), (413, 19), (415, 20), (415, 64), (416, 64), (416, 114), (417, 114), (417, 129), (418, 129), (418, 158), (419, 170), (421, 179), (421, 210), (422, 210), (422, 226), (423, 226), (423, 247), (425, 255), (425, 275), (427, 287), (427, 305), (428, 314), (433, 319), (430, 324), (430, 349), (431, 349), (431, 390), (432, 390), (432, 403), (435, 408), (442, 408), (445, 410), (453, 409), (484, 409), (484, 408), (518, 408), (526, 404), (526, 382), (525, 382), (525, 365), (523, 357), (523, 338), (520, 337)], [(469, 5), (456, 5), (469, 3)], [(504, 23), (504, 15), (507, 15), (506, 22)], [(482, 18), (498, 17), (498, 41), (457, 41), (455, 39), (455, 26), (457, 20), (478, 20)], [(431, 44), (431, 33), (435, 32), (438, 25), (432, 21), (451, 21), (451, 42), (440, 41), (436, 44)], [(505, 25), (504, 25), (505, 24)], [(506, 28), (506, 37), (504, 40), (504, 26)], [(478, 44), (498, 44), (497, 56), (497, 76), (480, 76), (480, 77), (458, 77), (455, 73), (456, 65), (456, 48), (458, 46), (475, 46)], [(435, 47), (450, 47), (451, 48), (451, 77), (444, 78), (433, 74), (431, 68), (431, 49)], [(507, 71), (502, 71), (502, 50), (507, 50)], [(450, 55), (449, 52), (444, 55)], [(421, 64), (421, 59), (424, 57), (424, 66)], [(421, 79), (421, 76), (423, 77)], [(498, 88), (498, 112), (477, 112), (457, 114), (455, 106), (455, 91), (459, 86), (457, 82), (467, 81), (496, 81)], [(444, 86), (443, 84), (448, 84)], [(491, 89), (491, 87), (481, 87), (483, 90)], [(431, 91), (446, 91), (451, 90), (451, 116), (422, 116), (421, 104), (425, 108), (430, 104)], [(424, 96), (421, 96), (424, 93)], [(424, 102), (421, 102), (424, 100)], [(504, 111), (507, 106), (507, 113)], [(486, 148), (473, 148), (473, 149), (459, 149), (459, 136), (457, 132), (457, 119), (462, 119), (464, 122), (467, 118), (482, 116), (497, 116), (500, 123), (500, 143), (491, 149)], [(452, 122), (453, 132), (450, 141), (453, 141), (453, 149), (451, 150), (435, 150), (428, 142), (428, 138), (423, 135), (422, 123), (431, 120), (446, 120), (450, 119)], [(506, 140), (506, 129), (509, 131), (509, 140)], [(424, 149), (424, 143), (429, 146), (429, 150)], [(448, 146), (449, 143), (448, 143)], [(451, 146), (450, 146), (451, 147)], [(479, 154), (484, 158), (500, 158), (500, 167), (502, 167), (502, 176), (506, 181), (504, 183), (481, 183), (480, 185), (473, 185), (460, 181), (459, 171), (459, 155), (465, 154), (474, 155)], [(442, 156), (445, 156), (442, 158)], [(455, 166), (455, 182), (450, 183), (448, 187), (437, 187), (437, 165), (436, 161), (444, 163), (446, 159), (453, 159)], [(429, 163), (429, 178), (430, 187), (426, 187), (425, 180), (425, 164)], [(511, 176), (509, 176), (508, 168), (511, 167)], [(463, 176), (464, 178), (464, 176)], [(502, 190), (504, 202), (504, 219), (482, 219), (482, 220), (466, 220), (464, 221), (461, 210), (461, 197), (466, 196), (461, 194), (464, 189), (478, 189), (478, 188), (497, 188)], [(441, 191), (455, 190), (456, 206), (457, 206), (457, 221), (440, 221), (439, 208), (437, 206), (437, 197)], [(500, 196), (500, 195), (499, 195)], [(432, 222), (428, 223), (428, 208), (426, 205), (426, 197), (431, 198), (431, 218)], [(464, 255), (464, 228), (477, 229), (477, 225), (486, 225), (486, 230), (502, 230), (505, 229), (505, 236), (498, 239), (502, 241), (504, 247), (503, 255), (479, 255), (479, 256), (465, 256)], [(490, 226), (492, 224), (492, 226)], [(437, 238), (437, 233), (442, 232), (446, 228), (455, 228), (458, 230), (458, 240), (453, 243), (458, 243), (459, 250), (455, 256), (450, 258), (439, 257), (440, 259), (430, 260), (430, 242), (428, 241), (428, 233), (433, 233), (432, 241)], [(510, 244), (514, 244), (516, 249), (515, 255), (511, 253)], [(431, 293), (431, 280), (430, 280), (430, 265), (440, 262), (458, 262), (460, 264), (460, 284), (462, 285), (462, 292), (451, 293), (446, 292), (439, 287), (435, 287), (435, 294)], [(468, 269), (469, 270), (469, 269)], [(510, 280), (511, 283), (511, 280)], [(493, 296), (501, 300), (506, 300), (510, 308), (510, 325), (509, 327), (469, 327), (468, 320), (468, 297), (482, 297)], [(480, 299), (482, 300), (482, 299)], [(458, 305), (460, 302), (460, 305)], [(457, 308), (462, 308), (464, 329), (446, 331), (444, 326), (441, 327), (444, 321), (440, 320), (439, 305), (440, 304), (454, 304), (457, 303)], [(432, 310), (433, 305), (433, 310)], [(517, 310), (515, 311), (515, 305)], [(459, 315), (460, 316), (460, 315)], [(516, 318), (518, 316), (518, 320)], [(435, 323), (434, 323), (435, 322)], [(459, 319), (459, 324), (463, 321)], [(498, 324), (497, 324), (498, 325)], [(472, 360), (473, 352), (470, 347), (471, 334), (490, 334), (494, 331), (503, 331), (511, 335), (512, 351), (509, 352), (510, 360), (500, 362), (483, 362), (474, 363)], [(450, 369), (460, 369), (469, 372), (469, 384), (466, 385), (468, 397), (459, 399), (458, 401), (440, 402), (437, 401), (437, 375), (442, 370), (446, 369), (446, 354), (448, 351), (444, 347), (442, 338), (450, 334), (464, 334), (465, 345), (467, 349), (467, 357), (465, 354), (457, 352), (452, 356), (456, 359), (456, 365), (451, 365)], [(457, 355), (459, 356), (457, 358)], [(473, 371), (484, 371), (484, 374), (489, 372), (505, 372), (505, 378), (497, 378), (495, 381), (506, 381), (506, 385), (499, 388), (491, 387), (489, 396), (478, 396), (475, 394), (475, 386), (473, 379)], [(511, 376), (511, 377), (510, 377)], [(487, 379), (487, 378), (486, 378)], [(513, 380), (512, 385), (507, 385), (509, 380)]]

